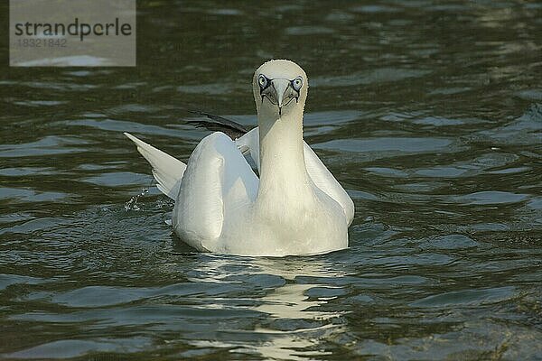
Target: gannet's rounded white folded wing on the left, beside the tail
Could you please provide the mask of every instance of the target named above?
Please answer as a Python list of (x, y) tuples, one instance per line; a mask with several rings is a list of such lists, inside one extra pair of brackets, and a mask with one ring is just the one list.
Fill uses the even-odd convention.
[(220, 251), (225, 219), (256, 199), (257, 185), (256, 174), (229, 136), (208, 135), (194, 149), (184, 172), (173, 209), (175, 231), (201, 251)]

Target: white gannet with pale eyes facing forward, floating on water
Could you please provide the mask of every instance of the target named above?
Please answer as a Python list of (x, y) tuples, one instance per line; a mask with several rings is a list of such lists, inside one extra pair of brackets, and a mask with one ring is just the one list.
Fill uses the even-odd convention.
[(257, 127), (236, 140), (206, 136), (187, 164), (125, 133), (175, 201), (172, 226), (182, 241), (201, 252), (252, 256), (348, 247), (354, 203), (304, 143), (308, 86), (293, 61), (267, 61), (252, 80)]

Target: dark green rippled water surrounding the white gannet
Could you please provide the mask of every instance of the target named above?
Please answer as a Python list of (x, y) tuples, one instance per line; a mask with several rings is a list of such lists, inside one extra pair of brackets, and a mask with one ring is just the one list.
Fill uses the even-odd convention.
[[(136, 68), (0, 40), (0, 358), (542, 359), (539, 2), (138, 5)], [(122, 132), (186, 160), (183, 109), (255, 124), (272, 58), (309, 76), (350, 248), (195, 253)]]

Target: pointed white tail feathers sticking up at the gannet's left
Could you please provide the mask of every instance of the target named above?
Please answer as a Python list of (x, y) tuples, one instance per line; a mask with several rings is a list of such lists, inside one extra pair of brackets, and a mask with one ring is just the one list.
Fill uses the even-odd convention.
[(154, 146), (137, 139), (134, 135), (124, 133), (128, 139), (137, 145), (137, 151), (153, 166), (156, 187), (169, 198), (176, 200), (181, 187), (181, 180), (186, 164), (162, 152)]

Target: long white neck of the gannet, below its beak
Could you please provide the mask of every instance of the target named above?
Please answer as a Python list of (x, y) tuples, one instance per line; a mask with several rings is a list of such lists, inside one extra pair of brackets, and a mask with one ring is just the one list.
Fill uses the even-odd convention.
[(310, 191), (304, 162), (303, 108), (299, 107), (280, 117), (258, 115), (258, 198), (279, 193), (296, 199)]

